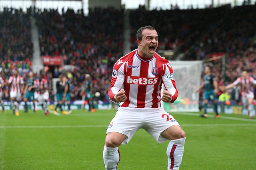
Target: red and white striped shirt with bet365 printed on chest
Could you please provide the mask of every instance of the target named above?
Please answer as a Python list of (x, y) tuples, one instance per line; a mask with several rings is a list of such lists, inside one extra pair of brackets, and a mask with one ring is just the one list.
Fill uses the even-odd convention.
[(119, 104), (121, 107), (159, 108), (162, 83), (172, 94), (173, 103), (178, 91), (170, 63), (157, 53), (149, 59), (141, 57), (136, 49), (115, 63), (108, 95), (114, 101), (116, 93), (124, 89), (127, 100)]

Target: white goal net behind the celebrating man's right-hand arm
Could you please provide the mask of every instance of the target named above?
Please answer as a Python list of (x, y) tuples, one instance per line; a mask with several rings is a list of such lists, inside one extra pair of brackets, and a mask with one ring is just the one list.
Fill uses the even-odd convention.
[(174, 71), (178, 98), (174, 104), (163, 103), (166, 111), (199, 111), (202, 61), (169, 61)]

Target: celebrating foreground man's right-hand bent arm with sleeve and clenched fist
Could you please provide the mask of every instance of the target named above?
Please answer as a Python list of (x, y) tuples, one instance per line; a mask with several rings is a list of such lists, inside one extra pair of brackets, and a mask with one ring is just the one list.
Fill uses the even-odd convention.
[(166, 103), (173, 103), (178, 97), (178, 90), (173, 77), (173, 70), (169, 63), (164, 64), (165, 72), (162, 76), (166, 90), (163, 90), (161, 100)]

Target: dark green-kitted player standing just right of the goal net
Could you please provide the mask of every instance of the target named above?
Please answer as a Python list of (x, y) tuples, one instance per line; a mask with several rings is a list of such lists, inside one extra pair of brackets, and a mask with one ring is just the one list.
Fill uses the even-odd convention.
[(204, 68), (204, 82), (201, 84), (201, 86), (196, 90), (195, 92), (199, 92), (202, 88), (204, 88), (204, 94), (203, 94), (203, 103), (204, 103), (204, 114), (200, 115), (201, 117), (208, 117), (207, 115), (207, 105), (208, 101), (211, 100), (214, 106), (214, 111), (216, 115), (214, 117), (219, 118), (220, 115), (218, 113), (218, 106), (216, 101), (216, 93), (218, 92), (218, 82), (216, 81), (216, 78), (211, 74), (211, 68), (210, 66), (206, 66)]

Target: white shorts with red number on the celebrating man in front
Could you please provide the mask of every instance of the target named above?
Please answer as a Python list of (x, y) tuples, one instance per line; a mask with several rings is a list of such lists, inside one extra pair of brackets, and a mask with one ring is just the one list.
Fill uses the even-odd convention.
[(173, 125), (179, 125), (179, 123), (162, 108), (119, 107), (106, 133), (119, 132), (126, 135), (126, 139), (122, 142), (126, 145), (134, 133), (142, 128), (158, 143), (163, 143), (168, 139), (162, 137), (162, 132)]

